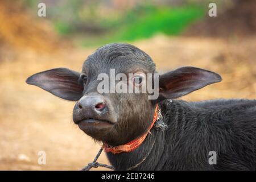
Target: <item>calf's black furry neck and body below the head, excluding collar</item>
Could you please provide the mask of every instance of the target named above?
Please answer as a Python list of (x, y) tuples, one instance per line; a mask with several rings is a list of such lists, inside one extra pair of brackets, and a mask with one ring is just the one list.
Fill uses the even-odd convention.
[[(255, 170), (256, 100), (212, 100), (160, 103), (167, 129), (156, 129), (142, 146), (108, 159), (115, 169), (134, 166), (154, 148), (135, 170)], [(210, 151), (217, 163), (209, 164)]]

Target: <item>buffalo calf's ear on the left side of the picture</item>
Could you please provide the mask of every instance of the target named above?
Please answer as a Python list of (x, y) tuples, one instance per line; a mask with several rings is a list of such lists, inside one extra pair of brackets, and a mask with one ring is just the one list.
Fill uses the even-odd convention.
[(84, 90), (83, 85), (79, 83), (79, 76), (79, 72), (67, 68), (56, 68), (36, 73), (28, 77), (26, 82), (65, 100), (77, 101), (82, 97)]

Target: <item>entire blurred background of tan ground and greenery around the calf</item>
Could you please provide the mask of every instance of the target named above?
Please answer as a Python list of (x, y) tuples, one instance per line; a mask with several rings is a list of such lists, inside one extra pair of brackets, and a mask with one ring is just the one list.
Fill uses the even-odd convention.
[[(46, 3), (46, 17), (38, 3)], [(217, 17), (209, 17), (209, 3)], [(223, 81), (181, 99), (256, 98), (254, 0), (0, 1), (0, 169), (77, 170), (100, 144), (72, 122), (74, 102), (27, 85), (46, 69), (81, 65), (106, 43), (131, 43), (159, 72), (184, 65), (220, 73)], [(46, 151), (46, 165), (38, 152)], [(100, 162), (108, 163), (105, 154)], [(98, 168), (102, 169), (102, 168)]]

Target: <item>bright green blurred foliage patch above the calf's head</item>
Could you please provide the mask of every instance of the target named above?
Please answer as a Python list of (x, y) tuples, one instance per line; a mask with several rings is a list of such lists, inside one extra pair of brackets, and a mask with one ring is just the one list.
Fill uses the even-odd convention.
[(198, 6), (139, 6), (113, 23), (117, 30), (114, 39), (132, 41), (150, 38), (159, 32), (179, 35), (191, 22), (203, 16), (204, 9)]

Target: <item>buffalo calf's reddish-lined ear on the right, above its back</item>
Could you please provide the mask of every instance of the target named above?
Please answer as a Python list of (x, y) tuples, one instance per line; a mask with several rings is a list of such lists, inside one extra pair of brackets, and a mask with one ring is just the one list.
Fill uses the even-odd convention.
[(220, 81), (221, 76), (217, 73), (195, 67), (181, 67), (160, 75), (159, 97), (162, 99), (181, 97)]

